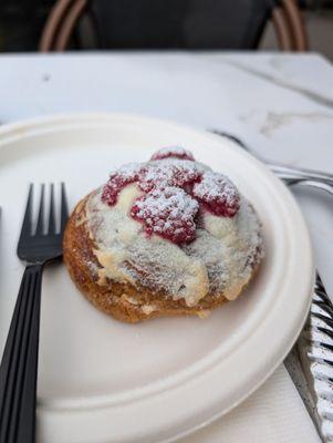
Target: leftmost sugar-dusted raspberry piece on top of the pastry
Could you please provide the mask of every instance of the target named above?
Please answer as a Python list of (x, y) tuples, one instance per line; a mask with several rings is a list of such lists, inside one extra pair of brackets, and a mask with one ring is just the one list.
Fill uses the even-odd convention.
[(108, 206), (115, 205), (119, 192), (131, 183), (137, 182), (139, 171), (139, 164), (128, 163), (111, 174), (108, 182), (103, 187), (102, 202)]

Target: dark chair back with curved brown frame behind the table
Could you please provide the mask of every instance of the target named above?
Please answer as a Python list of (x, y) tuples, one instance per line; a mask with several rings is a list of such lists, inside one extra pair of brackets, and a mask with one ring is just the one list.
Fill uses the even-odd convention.
[(98, 42), (96, 49), (256, 49), (271, 18), (280, 49), (306, 50), (305, 28), (295, 0), (280, 0), (279, 6), (277, 1), (58, 0), (40, 49), (67, 49), (85, 17), (85, 27), (93, 29)]

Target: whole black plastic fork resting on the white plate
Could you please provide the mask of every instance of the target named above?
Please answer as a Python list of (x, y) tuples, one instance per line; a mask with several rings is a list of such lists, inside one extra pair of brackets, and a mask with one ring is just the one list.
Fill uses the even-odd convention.
[(0, 367), (0, 443), (34, 443), (42, 271), (46, 262), (62, 257), (67, 220), (62, 184), (60, 229), (56, 229), (54, 186), (51, 184), (49, 222), (44, 223), (44, 185), (41, 185), (37, 228), (32, 233), (32, 197), (33, 185), (30, 185), (18, 245), (18, 256), (27, 261), (27, 268)]

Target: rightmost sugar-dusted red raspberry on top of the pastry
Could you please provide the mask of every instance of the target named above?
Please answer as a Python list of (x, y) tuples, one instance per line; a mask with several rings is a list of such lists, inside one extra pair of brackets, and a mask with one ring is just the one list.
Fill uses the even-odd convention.
[(239, 209), (237, 187), (225, 175), (206, 172), (200, 183), (195, 183), (192, 195), (211, 213), (232, 217)]

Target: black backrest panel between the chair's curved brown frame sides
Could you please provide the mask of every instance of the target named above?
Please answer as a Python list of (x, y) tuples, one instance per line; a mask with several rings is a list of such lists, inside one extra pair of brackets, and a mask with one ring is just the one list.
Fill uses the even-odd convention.
[(256, 49), (269, 0), (95, 0), (104, 49)]

